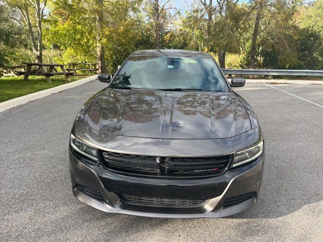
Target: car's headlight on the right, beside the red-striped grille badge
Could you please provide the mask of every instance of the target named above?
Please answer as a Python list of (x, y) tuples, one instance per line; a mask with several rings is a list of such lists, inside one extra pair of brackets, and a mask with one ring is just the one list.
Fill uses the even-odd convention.
[(258, 158), (263, 150), (263, 142), (252, 146), (249, 149), (238, 151), (234, 154), (231, 167), (236, 167)]

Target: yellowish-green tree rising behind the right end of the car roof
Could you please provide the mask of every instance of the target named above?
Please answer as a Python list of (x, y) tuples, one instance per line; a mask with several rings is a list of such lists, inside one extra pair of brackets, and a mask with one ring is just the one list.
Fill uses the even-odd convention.
[(240, 51), (241, 38), (247, 31), (252, 8), (238, 1), (217, 0), (214, 4), (212, 0), (199, 0), (198, 6), (182, 20), (182, 26), (190, 29), (183, 31), (189, 35), (189, 45), (217, 52), (221, 68), (225, 68), (227, 51)]

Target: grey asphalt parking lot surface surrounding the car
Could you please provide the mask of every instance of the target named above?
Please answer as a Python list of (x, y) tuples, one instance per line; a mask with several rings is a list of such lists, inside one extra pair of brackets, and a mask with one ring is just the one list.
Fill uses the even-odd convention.
[[(323, 86), (272, 85), (323, 106)], [(222, 219), (107, 214), (77, 201), (69, 132), (99, 82), (0, 113), (1, 241), (322, 241), (323, 107), (264, 84), (236, 91), (254, 107), (266, 164), (257, 205)]]

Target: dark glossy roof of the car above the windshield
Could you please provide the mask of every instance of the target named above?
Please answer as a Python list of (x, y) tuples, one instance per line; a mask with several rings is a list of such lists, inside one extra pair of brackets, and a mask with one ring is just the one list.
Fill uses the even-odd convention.
[(200, 52), (195, 50), (184, 50), (184, 49), (146, 49), (146, 50), (137, 50), (133, 52), (130, 56), (190, 56), (190, 57), (206, 57), (212, 58), (209, 53)]

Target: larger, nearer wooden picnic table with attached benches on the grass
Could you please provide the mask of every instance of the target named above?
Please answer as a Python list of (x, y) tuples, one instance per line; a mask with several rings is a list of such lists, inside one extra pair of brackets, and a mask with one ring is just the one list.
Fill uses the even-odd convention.
[[(64, 75), (66, 80), (70, 81), (70, 76), (74, 75), (74, 72), (67, 72), (63, 64), (27, 63), (26, 66), (26, 71), (18, 72), (18, 75), (25, 76), (24, 81), (27, 81), (29, 76), (45, 76), (46, 82), (50, 83), (50, 77), (55, 75)], [(58, 68), (62, 72), (59, 72)]]

